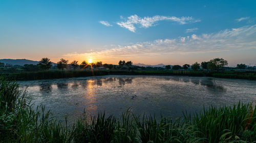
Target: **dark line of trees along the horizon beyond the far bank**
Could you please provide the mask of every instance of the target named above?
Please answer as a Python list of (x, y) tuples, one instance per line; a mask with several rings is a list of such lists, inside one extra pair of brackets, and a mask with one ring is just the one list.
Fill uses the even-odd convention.
[[(222, 58), (215, 58), (212, 59), (208, 62), (201, 62), (199, 64), (198, 62), (189, 65), (189, 64), (184, 64), (183, 66), (180, 65), (166, 65), (165, 69), (166, 70), (180, 70), (180, 69), (192, 69), (192, 70), (199, 70), (199, 69), (204, 69), (204, 70), (223, 70), (225, 66), (228, 65), (228, 62)], [(4, 70), (4, 63), (0, 62), (0, 71)], [(24, 66), (18, 66), (15, 65), (11, 68), (6, 69), (7, 71), (15, 71), (17, 68), (25, 70), (25, 71), (39, 71), (39, 70), (49, 70), (50, 68), (57, 68), (60, 70), (64, 69), (92, 69), (92, 68), (100, 68), (103, 67), (104, 69), (122, 69), (122, 70), (137, 70), (137, 69), (142, 69), (142, 70), (163, 70), (164, 68), (161, 67), (140, 67), (140, 66), (133, 66), (132, 61), (125, 62), (124, 60), (120, 60), (118, 63), (118, 66), (115, 66), (113, 64), (102, 64), (102, 62), (95, 62), (95, 63), (88, 63), (87, 61), (82, 61), (81, 64), (78, 64), (78, 61), (72, 61), (69, 63), (69, 60), (65, 59), (60, 59), (59, 62), (57, 62), (57, 66), (53, 67), (52, 62), (50, 61), (49, 58), (42, 58), (37, 65), (33, 64), (25, 64)], [(246, 69), (247, 66), (245, 64), (237, 64), (236, 69)]]

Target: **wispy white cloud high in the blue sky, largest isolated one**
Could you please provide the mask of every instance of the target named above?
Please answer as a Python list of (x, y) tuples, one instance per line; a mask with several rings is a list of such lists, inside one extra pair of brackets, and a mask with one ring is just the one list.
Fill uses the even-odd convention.
[(157, 21), (162, 21), (162, 20), (169, 20), (169, 21), (175, 21), (178, 22), (179, 24), (186, 24), (186, 23), (191, 23), (191, 22), (199, 22), (201, 20), (195, 20), (192, 17), (175, 17), (175, 16), (153, 16), (153, 17), (139, 17), (138, 15), (131, 15), (124, 19), (121, 17), (124, 21), (119, 21), (117, 24), (123, 28), (127, 28), (131, 32), (136, 31), (135, 25), (139, 25), (140, 27), (143, 28), (148, 28), (151, 26), (154, 26)]

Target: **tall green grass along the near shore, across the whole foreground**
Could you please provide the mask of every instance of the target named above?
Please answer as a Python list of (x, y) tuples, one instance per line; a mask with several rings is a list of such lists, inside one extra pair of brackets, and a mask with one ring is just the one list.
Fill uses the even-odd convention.
[(26, 89), (0, 82), (0, 142), (256, 142), (252, 104), (210, 106), (182, 119), (142, 117), (129, 110), (119, 118), (80, 117), (73, 126), (51, 117), (44, 106), (33, 110)]

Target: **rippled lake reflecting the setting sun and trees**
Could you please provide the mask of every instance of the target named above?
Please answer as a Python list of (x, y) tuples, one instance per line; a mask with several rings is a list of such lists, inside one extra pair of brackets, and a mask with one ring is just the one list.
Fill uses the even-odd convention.
[(20, 85), (27, 88), (34, 107), (45, 105), (58, 119), (68, 114), (71, 122), (83, 111), (119, 116), (130, 109), (175, 119), (185, 110), (256, 101), (256, 81), (243, 79), (106, 75), (20, 81)]

